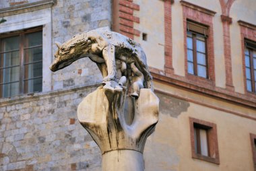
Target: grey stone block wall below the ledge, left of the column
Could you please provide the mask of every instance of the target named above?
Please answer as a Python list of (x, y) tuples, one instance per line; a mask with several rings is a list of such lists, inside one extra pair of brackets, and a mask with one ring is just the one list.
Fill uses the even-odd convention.
[(77, 121), (95, 87), (0, 103), (0, 170), (101, 170), (100, 149)]

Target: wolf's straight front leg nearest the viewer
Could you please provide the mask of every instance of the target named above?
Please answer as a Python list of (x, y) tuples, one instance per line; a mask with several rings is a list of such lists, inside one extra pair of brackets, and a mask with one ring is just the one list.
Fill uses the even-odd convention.
[(103, 81), (115, 80), (116, 63), (115, 63), (115, 46), (108, 45), (102, 50), (102, 55), (108, 69), (108, 76), (103, 78)]

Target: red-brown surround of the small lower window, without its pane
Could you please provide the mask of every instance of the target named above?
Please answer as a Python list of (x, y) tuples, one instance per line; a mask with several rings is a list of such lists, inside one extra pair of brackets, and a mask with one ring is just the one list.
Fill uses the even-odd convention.
[[(217, 126), (214, 123), (202, 121), (197, 118), (189, 117), (190, 125), (190, 137), (191, 137), (191, 154), (192, 158), (211, 162), (214, 164), (220, 164), (220, 157), (218, 151), (218, 137), (217, 137)], [(203, 156), (201, 153), (197, 153), (195, 150), (195, 127), (197, 129), (207, 130), (207, 153), (208, 156)], [(198, 144), (197, 144), (198, 147)], [(198, 148), (197, 148), (198, 149)]]

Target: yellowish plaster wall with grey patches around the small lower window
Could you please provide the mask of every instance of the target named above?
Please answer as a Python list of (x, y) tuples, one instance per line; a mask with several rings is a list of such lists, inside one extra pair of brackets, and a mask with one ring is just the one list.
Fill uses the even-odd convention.
[[(221, 108), (235, 111), (232, 105), (212, 99), (211, 103), (205, 97), (179, 90), (162, 83), (155, 82), (155, 89), (168, 94), (190, 99), (196, 102), (206, 102), (213, 106), (222, 104)], [(144, 158), (146, 170), (253, 170), (253, 156), (250, 133), (256, 133), (256, 121), (223, 112), (212, 107), (195, 102), (188, 102), (174, 96), (157, 94), (160, 104), (160, 121), (155, 133), (148, 139)], [(209, 100), (209, 99), (208, 99)], [(170, 112), (172, 111), (172, 112)], [(240, 107), (240, 111), (248, 116), (256, 116), (255, 110)], [(212, 164), (191, 157), (191, 139), (189, 117), (215, 123), (218, 133), (218, 148), (220, 165)], [(162, 131), (164, 130), (164, 131)], [(161, 160), (159, 159), (161, 156)], [(159, 162), (158, 162), (159, 161)]]

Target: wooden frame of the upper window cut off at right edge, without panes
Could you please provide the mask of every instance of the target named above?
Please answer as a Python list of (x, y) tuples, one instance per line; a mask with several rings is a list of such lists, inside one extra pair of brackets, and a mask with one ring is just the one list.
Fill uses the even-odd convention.
[[(255, 46), (255, 48), (253, 48), (251, 46), (247, 46), (247, 43), (249, 43), (249, 44), (252, 43)], [(247, 89), (247, 75), (246, 75), (247, 67), (246, 67), (246, 65), (245, 65), (245, 84), (246, 84), (245, 89), (247, 90), (247, 92), (255, 94), (256, 93), (256, 90), (255, 90), (255, 87), (256, 87), (255, 81), (256, 80), (255, 80), (255, 74), (254, 74), (254, 70), (255, 70), (254, 65), (256, 65), (256, 64), (253, 63), (253, 51), (255, 51), (255, 53), (256, 53), (256, 43), (251, 41), (251, 40), (245, 39), (245, 52), (246, 52), (247, 48), (249, 50), (250, 73), (251, 73), (251, 90), (252, 91), (249, 91)], [(244, 61), (245, 61), (245, 52), (244, 52)]]

